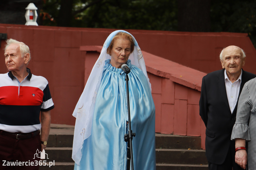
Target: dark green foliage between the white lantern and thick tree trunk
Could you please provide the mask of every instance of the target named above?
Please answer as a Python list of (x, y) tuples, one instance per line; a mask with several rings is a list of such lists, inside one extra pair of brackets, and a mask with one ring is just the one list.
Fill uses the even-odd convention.
[(56, 20), (61, 18), (58, 10), (61, 9), (61, 0), (45, 0), (42, 13), (50, 18), (41, 17), (42, 25), (177, 30), (177, 7), (174, 0), (72, 0), (72, 2), (72, 12), (66, 11), (72, 16), (70, 25), (58, 25)]

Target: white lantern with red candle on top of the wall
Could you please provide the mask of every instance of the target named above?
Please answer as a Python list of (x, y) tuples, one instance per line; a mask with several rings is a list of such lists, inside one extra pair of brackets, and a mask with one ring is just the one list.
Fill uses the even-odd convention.
[(33, 4), (30, 3), (28, 4), (27, 8), (26, 8), (26, 14), (25, 14), (25, 18), (26, 18), (26, 24), (25, 25), (35, 25), (38, 26), (38, 24), (36, 23), (36, 19), (37, 19), (37, 7)]

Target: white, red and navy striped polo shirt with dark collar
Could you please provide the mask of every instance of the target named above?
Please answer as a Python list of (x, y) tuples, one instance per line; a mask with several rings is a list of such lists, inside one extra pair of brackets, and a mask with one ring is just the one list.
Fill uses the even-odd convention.
[(41, 129), (40, 111), (54, 108), (48, 81), (31, 74), (19, 82), (9, 71), (0, 74), (0, 129), (28, 133)]

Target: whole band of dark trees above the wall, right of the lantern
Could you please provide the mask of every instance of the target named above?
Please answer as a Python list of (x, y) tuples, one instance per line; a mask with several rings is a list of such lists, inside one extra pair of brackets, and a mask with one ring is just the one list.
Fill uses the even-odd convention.
[[(209, 15), (209, 11), (202, 10), (201, 3), (197, 6), (195, 3), (189, 3), (191, 0), (182, 0), (182, 3), (178, 4), (180, 1), (43, 0), (39, 23), (65, 27), (183, 31), (178, 25), (193, 24), (191, 16), (196, 17), (191, 8), (198, 8), (194, 11), (200, 11), (201, 15)], [(188, 26), (186, 31), (248, 33), (256, 47), (256, 0), (205, 1), (210, 3), (210, 8), (207, 8), (210, 10), (210, 21), (205, 24), (207, 28), (197, 29), (197, 25), (203, 27), (204, 24), (194, 24), (191, 30)], [(191, 11), (191, 16), (181, 15), (179, 11)], [(186, 19), (189, 19), (189, 22), (186, 22)]]

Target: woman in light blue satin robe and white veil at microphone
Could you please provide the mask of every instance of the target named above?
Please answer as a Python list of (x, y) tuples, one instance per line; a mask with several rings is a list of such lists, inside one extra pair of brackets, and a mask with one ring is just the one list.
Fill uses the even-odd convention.
[[(106, 60), (103, 62), (102, 58)], [(131, 70), (128, 76), (131, 130), (136, 133), (132, 140), (134, 169), (156, 169), (155, 106), (144, 59), (134, 37), (119, 30), (111, 33), (103, 45), (94, 65), (101, 69), (91, 72), (90, 77), (99, 72), (99, 80), (92, 86), (95, 87), (92, 89), (94, 95), (92, 98), (85, 96), (88, 94), (86, 86), (73, 113), (77, 118), (72, 153), (75, 170), (126, 169), (127, 142), (124, 134), (129, 129), (122, 64), (127, 64)], [(89, 109), (84, 107), (88, 103), (86, 100), (91, 103)], [(82, 146), (77, 142), (81, 136)]]

